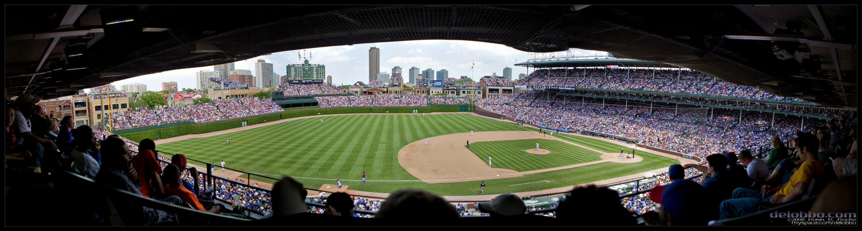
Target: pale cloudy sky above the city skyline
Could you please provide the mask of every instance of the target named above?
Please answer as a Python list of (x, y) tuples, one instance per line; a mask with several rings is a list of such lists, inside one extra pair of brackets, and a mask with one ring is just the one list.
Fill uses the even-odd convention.
[[(380, 71), (391, 74), (393, 67), (400, 66), (405, 81), (407, 81), (410, 67), (414, 66), (420, 70), (428, 68), (435, 71), (446, 69), (449, 71), (449, 77), (468, 76), (472, 77), (473, 80), (478, 80), (482, 76), (490, 76), (495, 72), (497, 76), (503, 76), (503, 68), (505, 67), (512, 68), (513, 79), (516, 79), (520, 73), (528, 73), (527, 68), (515, 66), (515, 64), (527, 61), (528, 52), (518, 51), (509, 46), (477, 41), (412, 40), (319, 47), (305, 49), (305, 52), (312, 54), (312, 57), (309, 58), (310, 64), (326, 65), (326, 75), (332, 76), (333, 84), (351, 85), (358, 81), (368, 82), (368, 49), (371, 47), (380, 48)], [(579, 49), (570, 51), (574, 54), (595, 53)], [(299, 52), (303, 51), (299, 50)], [(286, 65), (302, 64), (304, 60), (297, 59), (297, 51), (277, 52), (272, 53), (272, 55), (238, 61), (234, 63), (234, 68), (252, 70), (253, 72), (254, 63), (258, 59), (264, 59), (266, 63), (273, 64), (273, 69), (279, 76), (284, 76), (286, 73)], [(473, 64), (475, 66), (471, 71)], [(180, 89), (195, 88), (195, 72), (200, 70), (211, 71), (213, 67), (168, 70), (128, 78), (113, 84), (120, 88), (122, 84), (143, 83), (147, 84), (147, 90), (159, 91), (162, 90), (161, 82), (177, 82)]]

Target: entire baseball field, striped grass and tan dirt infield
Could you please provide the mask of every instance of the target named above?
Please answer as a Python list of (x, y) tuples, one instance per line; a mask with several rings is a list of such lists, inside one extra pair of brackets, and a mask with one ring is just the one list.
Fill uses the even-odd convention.
[[(355, 114), (295, 119), (156, 148), (199, 161), (223, 160), (249, 173), (289, 175), (307, 188), (341, 179), (350, 190), (419, 188), (448, 196), (479, 195), (482, 180), (488, 184), (484, 194), (538, 191), (679, 163), (640, 151), (637, 158), (620, 159), (619, 150), (630, 147), (568, 134), (543, 137), (536, 131), (471, 113)], [(535, 143), (541, 154), (527, 152)], [(493, 155), (492, 166), (488, 155)]]

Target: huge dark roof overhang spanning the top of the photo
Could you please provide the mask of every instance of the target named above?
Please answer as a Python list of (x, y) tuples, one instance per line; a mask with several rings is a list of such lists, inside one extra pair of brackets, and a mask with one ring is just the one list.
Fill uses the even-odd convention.
[[(569, 48), (610, 52), (617, 58), (703, 71), (824, 106), (856, 106), (857, 11), (846, 6), (9, 5), (6, 9), (5, 90), (10, 97), (26, 92), (54, 98), (134, 76), (226, 64), (272, 52), (404, 40), (472, 40), (525, 52)], [(193, 13), (227, 11), (255, 12), (255, 16)], [(803, 34), (775, 29), (774, 23), (784, 27), (787, 22), (802, 23)], [(772, 51), (776, 40), (785, 42), (786, 49), (799, 50), (796, 57), (777, 58)], [(798, 49), (790, 47), (797, 43)], [(811, 59), (800, 64), (802, 58)]]

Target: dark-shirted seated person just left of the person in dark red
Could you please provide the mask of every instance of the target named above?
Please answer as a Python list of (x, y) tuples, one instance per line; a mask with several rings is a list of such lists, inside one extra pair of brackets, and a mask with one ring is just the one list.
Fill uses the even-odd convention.
[[(128, 150), (128, 145), (122, 139), (108, 137), (102, 141), (101, 150), (105, 160), (96, 175), (96, 182), (144, 196), (139, 190), (140, 187), (133, 181), (133, 179), (137, 181), (138, 177), (132, 166), (132, 153)], [(181, 200), (176, 196), (170, 199), (174, 204), (181, 203)], [(155, 225), (161, 222), (172, 222), (167, 213), (162, 210), (153, 210), (120, 198), (112, 198), (111, 203), (114, 204), (114, 208), (126, 225)]]

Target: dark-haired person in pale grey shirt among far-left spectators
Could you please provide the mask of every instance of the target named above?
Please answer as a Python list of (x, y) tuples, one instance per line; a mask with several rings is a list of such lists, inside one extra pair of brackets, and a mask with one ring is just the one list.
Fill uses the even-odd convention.
[(72, 131), (72, 137), (75, 142), (72, 143), (72, 151), (69, 157), (72, 157), (72, 170), (84, 175), (87, 178), (96, 178), (99, 173), (99, 162), (94, 159), (93, 153), (98, 154), (100, 142), (96, 137), (96, 132), (88, 125), (83, 125)]

